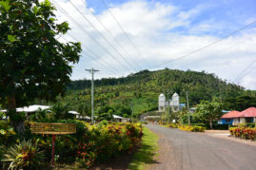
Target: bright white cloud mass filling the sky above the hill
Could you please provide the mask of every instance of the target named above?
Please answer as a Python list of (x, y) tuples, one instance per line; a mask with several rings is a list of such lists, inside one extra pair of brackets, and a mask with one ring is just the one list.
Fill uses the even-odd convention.
[[(89, 32), (90, 36), (100, 42), (103, 47), (106, 47), (114, 57), (122, 61), (123, 65), (127, 66), (133, 72), (135, 70), (133, 70), (132, 67), (146, 69), (148, 68), (148, 65), (156, 66), (158, 64), (167, 63), (167, 61), (186, 55), (191, 51), (207, 46), (219, 39), (218, 36), (212, 34), (200, 34), (200, 32), (207, 32), (211, 29), (218, 31), (226, 30), (226, 23), (215, 23), (213, 19), (206, 21), (202, 20), (196, 25), (191, 25), (193, 20), (200, 15), (202, 11), (210, 8), (210, 6), (207, 5), (201, 5), (195, 9), (189, 9), (187, 11), (183, 11), (172, 5), (154, 2), (148, 3), (143, 0), (111, 6), (110, 10), (126, 30), (127, 36), (143, 54), (143, 59), (129, 43), (126, 35), (117, 26), (111, 15), (108, 13), (108, 10), (101, 12), (97, 17), (111, 32), (113, 37), (109, 36), (108, 31), (105, 30), (105, 28), (103, 28), (91, 15), (91, 11), (94, 12), (96, 9), (90, 9), (86, 4), (82, 3), (82, 0), (72, 0), (71, 2), (75, 4), (89, 21), (101, 31), (102, 35), (105, 36), (108, 41), (124, 55), (124, 57), (126, 57), (128, 63), (132, 64), (132, 67), (129, 67), (120, 55), (100, 36), (100, 34), (94, 28), (91, 28), (89, 23), (85, 21), (80, 13), (69, 4), (69, 1), (57, 2), (63, 9), (68, 11), (77, 22), (79, 22), (81, 27)], [(69, 18), (62, 13), (57, 12), (57, 17), (60, 21), (69, 21)], [(251, 21), (252, 19), (249, 18), (248, 20)], [(248, 22), (248, 20), (246, 20), (246, 22)], [(101, 70), (101, 72), (97, 73), (98, 78), (128, 75), (130, 71), (127, 71), (123, 66), (116, 62), (113, 57), (109, 56), (108, 52), (93, 42), (81, 28), (73, 25), (70, 21), (69, 24), (72, 28), (70, 34), (81, 41), (84, 46), (89, 47), (89, 49), (96, 53), (97, 56), (94, 57), (99, 57), (98, 60), (92, 61), (89, 57), (83, 55), (80, 63), (74, 66), (72, 79), (89, 77), (89, 74), (84, 70), (85, 68), (90, 67), (95, 67)], [(183, 34), (179, 31), (172, 31), (174, 28), (187, 28), (187, 33)], [(231, 29), (235, 30), (236, 28)], [(71, 40), (69, 36), (65, 35), (65, 37)], [(233, 81), (248, 63), (256, 58), (255, 44), (256, 29), (248, 28), (244, 33), (229, 37), (217, 45), (207, 47), (200, 52), (189, 55), (174, 63), (154, 67), (154, 69), (164, 67), (180, 69), (189, 68), (194, 70), (204, 69), (207, 70), (207, 72), (214, 72), (223, 79)], [(120, 48), (120, 45), (128, 51), (128, 55), (126, 51)], [(84, 51), (89, 53), (87, 50)], [(148, 65), (145, 63), (145, 60), (148, 61)], [(102, 66), (100, 63), (106, 63), (108, 64), (108, 67), (112, 67), (118, 71), (111, 72), (108, 67)], [(245, 85), (246, 88), (256, 89), (256, 78), (252, 73), (253, 71), (248, 73), (242, 79), (241, 85)]]

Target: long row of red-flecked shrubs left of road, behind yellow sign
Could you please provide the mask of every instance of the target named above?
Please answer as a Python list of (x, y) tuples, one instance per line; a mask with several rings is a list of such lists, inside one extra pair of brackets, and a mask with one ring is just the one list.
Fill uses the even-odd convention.
[[(120, 154), (127, 153), (140, 144), (143, 136), (143, 129), (140, 123), (102, 122), (91, 125), (74, 120), (60, 122), (76, 123), (76, 134), (56, 136), (56, 161), (59, 163), (75, 163), (77, 168), (89, 168), (96, 162), (106, 162)], [(51, 158), (51, 136), (31, 134), (30, 123), (26, 123), (26, 126), (27, 130), (23, 135), (23, 139), (14, 140), (17, 138), (10, 138), (15, 136), (12, 131), (8, 132), (6, 129), (5, 131), (2, 129), (5, 135), (0, 135), (0, 141), (5, 141), (8, 138), (9, 141), (11, 139), (14, 140), (10, 142), (12, 145), (21, 144), (19, 141), (36, 143), (38, 150), (44, 153), (45, 162), (49, 162)], [(1, 150), (3, 149), (2, 147), (3, 145), (1, 146), (0, 144)], [(10, 148), (7, 149), (9, 150)], [(8, 152), (5, 151), (4, 153)], [(0, 152), (0, 158), (4, 153)], [(16, 153), (23, 155), (23, 153), (18, 153), (18, 151)], [(15, 156), (13, 155), (13, 157)], [(30, 159), (33, 158), (31, 157)], [(26, 162), (23, 162), (24, 159), (21, 159), (20, 161), (22, 161), (20, 164), (26, 164), (26, 166), (30, 167), (30, 160), (27, 159)]]

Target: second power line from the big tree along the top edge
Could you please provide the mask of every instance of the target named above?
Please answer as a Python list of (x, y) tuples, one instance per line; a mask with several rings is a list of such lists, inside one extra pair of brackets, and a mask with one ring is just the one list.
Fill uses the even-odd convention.
[[(77, 9), (76, 7), (75, 7), (75, 5), (69, 0), (69, 3), (72, 5), (72, 7), (74, 8), (74, 9), (76, 9), (81, 15), (82, 15), (82, 17), (89, 23), (89, 25), (92, 27), (92, 28), (94, 28), (95, 30), (97, 30), (98, 31), (98, 33), (99, 33), (99, 35), (108, 43), (108, 45), (110, 46), (110, 47), (112, 47), (113, 49), (114, 49), (114, 51), (117, 53), (117, 54), (119, 54), (120, 56), (121, 56), (121, 58), (125, 61), (125, 63), (128, 65), (128, 66), (130, 66), (131, 68), (133, 68), (133, 66), (131, 66), (129, 63), (128, 63), (128, 61), (127, 61), (127, 59), (123, 56), (123, 54), (121, 54), (117, 49), (116, 49), (116, 47), (114, 47), (113, 45), (111, 45), (111, 43), (108, 41), (108, 39), (102, 34), (102, 32), (98, 29), (98, 28), (96, 28), (90, 21), (89, 21), (89, 19), (79, 10), (79, 9)], [(134, 69), (134, 68), (133, 68)], [(136, 68), (134, 69), (134, 70), (136, 70)]]

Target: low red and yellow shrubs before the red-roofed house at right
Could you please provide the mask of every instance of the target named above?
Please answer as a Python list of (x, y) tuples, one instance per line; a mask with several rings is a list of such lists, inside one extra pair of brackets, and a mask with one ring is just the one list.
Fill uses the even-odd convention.
[(256, 128), (245, 127), (245, 126), (230, 127), (229, 132), (233, 137), (252, 140), (252, 141), (256, 140)]

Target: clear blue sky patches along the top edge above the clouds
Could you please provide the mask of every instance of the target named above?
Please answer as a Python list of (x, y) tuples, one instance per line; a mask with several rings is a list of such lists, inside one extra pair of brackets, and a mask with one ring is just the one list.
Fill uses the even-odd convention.
[[(128, 2), (128, 0), (105, 0), (108, 7), (118, 7)], [(130, 2), (130, 1), (129, 1)], [(193, 32), (194, 34), (212, 34), (215, 36), (225, 36), (226, 33), (235, 28), (243, 27), (246, 22), (256, 19), (256, 1), (255, 0), (155, 0), (147, 1), (148, 5), (154, 6), (156, 3), (164, 5), (172, 5), (179, 10), (192, 10), (202, 8), (199, 15), (191, 20), (190, 26), (198, 25), (207, 20), (212, 23), (226, 25), (226, 28), (209, 29), (201, 32)], [(101, 0), (88, 0), (88, 7), (95, 10), (99, 14), (106, 10)], [(174, 14), (175, 15), (175, 14)], [(173, 15), (169, 16), (170, 18)], [(179, 27), (171, 31), (177, 31), (183, 34), (189, 34), (187, 28)]]

